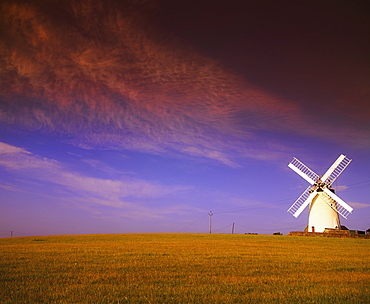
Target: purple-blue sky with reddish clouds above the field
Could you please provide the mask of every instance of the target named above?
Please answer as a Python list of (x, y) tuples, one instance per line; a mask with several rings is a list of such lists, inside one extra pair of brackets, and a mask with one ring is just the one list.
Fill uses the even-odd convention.
[[(0, 237), (370, 228), (366, 1), (2, 0)], [(210, 216), (212, 211), (212, 216)]]

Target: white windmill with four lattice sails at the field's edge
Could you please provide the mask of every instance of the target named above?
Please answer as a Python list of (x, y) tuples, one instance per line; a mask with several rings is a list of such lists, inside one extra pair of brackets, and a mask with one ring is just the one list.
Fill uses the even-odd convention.
[(310, 186), (288, 209), (288, 212), (298, 217), (310, 205), (307, 231), (324, 232), (325, 228), (340, 229), (339, 215), (345, 219), (353, 208), (339, 198), (332, 184), (352, 160), (341, 154), (333, 165), (322, 176), (293, 158), (288, 167), (310, 183)]

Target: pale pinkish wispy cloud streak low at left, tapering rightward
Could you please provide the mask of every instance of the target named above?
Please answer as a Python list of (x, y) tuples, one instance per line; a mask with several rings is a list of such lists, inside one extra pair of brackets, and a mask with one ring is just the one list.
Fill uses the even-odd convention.
[[(85, 204), (128, 208), (132, 212), (139, 212), (143, 208), (138, 203), (140, 200), (166, 197), (188, 190), (183, 186), (166, 186), (142, 179), (112, 180), (85, 176), (56, 160), (42, 158), (4, 143), (0, 143), (0, 155), (0, 166), (6, 171), (23, 179), (39, 181), (41, 185), (52, 184), (58, 187), (59, 193), (69, 193), (76, 202)], [(16, 189), (10, 183), (5, 186), (8, 190)]]

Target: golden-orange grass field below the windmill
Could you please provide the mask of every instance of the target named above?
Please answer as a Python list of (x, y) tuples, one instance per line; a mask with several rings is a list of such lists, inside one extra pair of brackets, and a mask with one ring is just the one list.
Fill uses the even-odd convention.
[(0, 239), (0, 303), (370, 303), (370, 240), (236, 234)]

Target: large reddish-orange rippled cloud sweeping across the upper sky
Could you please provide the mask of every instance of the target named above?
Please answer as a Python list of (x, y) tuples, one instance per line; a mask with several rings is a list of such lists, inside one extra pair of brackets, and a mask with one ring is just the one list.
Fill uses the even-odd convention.
[[(258, 131), (335, 140), (340, 126), (316, 124), (291, 101), (179, 41), (160, 39), (148, 9), (135, 1), (124, 9), (115, 2), (60, 3), (47, 11), (36, 2), (2, 3), (6, 124), (68, 133), (85, 147), (183, 154), (227, 166), (284, 153), (271, 137), (266, 147)], [(340, 134), (347, 142), (368, 135), (351, 128)]]

